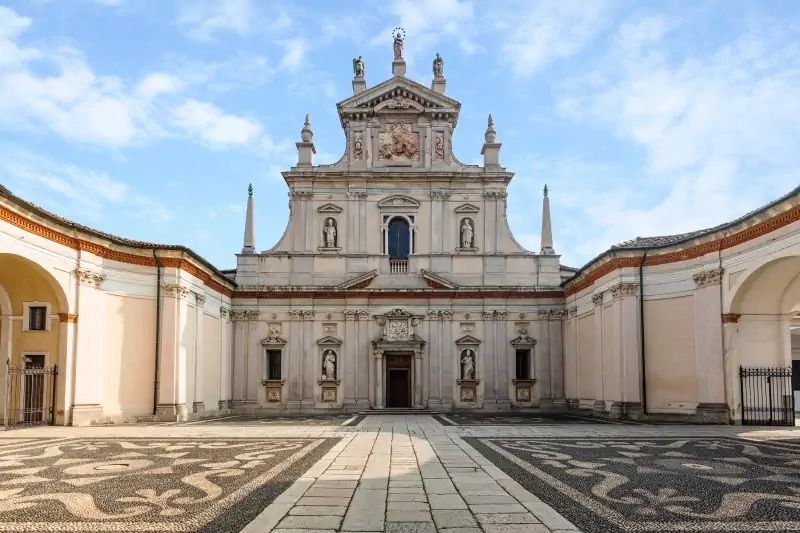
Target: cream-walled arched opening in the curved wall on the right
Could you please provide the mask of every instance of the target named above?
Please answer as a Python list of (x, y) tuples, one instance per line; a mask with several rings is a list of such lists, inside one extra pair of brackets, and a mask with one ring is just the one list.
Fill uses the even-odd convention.
[[(725, 343), (733, 357), (727, 359), (738, 361), (737, 367), (759, 369), (756, 396), (774, 411), (763, 416), (774, 418), (778, 409), (791, 411), (792, 401), (794, 409), (800, 409), (800, 255), (767, 261), (746, 276), (732, 287)], [(781, 369), (791, 369), (791, 379)], [(739, 368), (730, 371), (733, 378)], [(731, 379), (729, 386), (734, 397), (742, 395), (735, 403), (743, 413), (754, 402), (748, 386), (755, 379), (739, 380)]]

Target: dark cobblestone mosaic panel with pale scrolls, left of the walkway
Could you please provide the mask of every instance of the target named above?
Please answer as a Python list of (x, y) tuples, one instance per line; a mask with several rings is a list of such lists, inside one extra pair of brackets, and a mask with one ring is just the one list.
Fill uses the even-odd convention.
[(62, 439), (0, 450), (0, 531), (238, 532), (338, 439)]

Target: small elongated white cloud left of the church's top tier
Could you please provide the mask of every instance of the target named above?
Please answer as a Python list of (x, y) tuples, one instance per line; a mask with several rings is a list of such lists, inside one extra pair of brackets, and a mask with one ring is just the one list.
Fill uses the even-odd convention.
[(223, 112), (214, 104), (189, 100), (173, 110), (173, 123), (212, 148), (248, 144), (258, 138), (261, 126), (253, 119)]

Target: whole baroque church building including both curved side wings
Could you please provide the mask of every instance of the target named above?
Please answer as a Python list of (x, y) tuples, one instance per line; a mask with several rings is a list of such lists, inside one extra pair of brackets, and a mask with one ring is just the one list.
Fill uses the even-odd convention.
[[(402, 51), (397, 35), (373, 87), (353, 61), (337, 162), (314, 164), (306, 116), (286, 230), (256, 248), (251, 188), (233, 270), (0, 187), (6, 424), (392, 409), (738, 423), (745, 369), (800, 360), (800, 188), (566, 267), (546, 188), (541, 248), (511, 233), (491, 115), (483, 164), (461, 163), (442, 59), (426, 86)], [(792, 389), (769, 399), (793, 419)]]

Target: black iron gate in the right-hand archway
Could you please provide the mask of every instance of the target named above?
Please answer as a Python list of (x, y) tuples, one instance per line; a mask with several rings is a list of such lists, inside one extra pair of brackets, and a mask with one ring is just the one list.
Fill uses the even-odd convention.
[(791, 367), (740, 367), (742, 424), (794, 426)]

